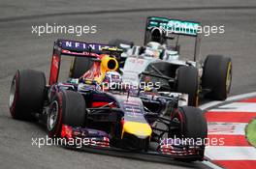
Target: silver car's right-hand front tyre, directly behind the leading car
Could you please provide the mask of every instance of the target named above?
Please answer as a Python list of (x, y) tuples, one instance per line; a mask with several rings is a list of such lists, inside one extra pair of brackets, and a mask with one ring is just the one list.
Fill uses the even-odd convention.
[(176, 92), (188, 94), (188, 105), (198, 105), (198, 70), (192, 66), (180, 67), (176, 74)]

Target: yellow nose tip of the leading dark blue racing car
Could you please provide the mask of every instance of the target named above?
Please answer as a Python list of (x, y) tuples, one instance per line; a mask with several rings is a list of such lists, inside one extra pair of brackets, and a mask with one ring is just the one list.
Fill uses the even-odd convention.
[(122, 129), (122, 137), (123, 133), (133, 134), (138, 138), (144, 139), (151, 136), (152, 129), (145, 123), (125, 122)]

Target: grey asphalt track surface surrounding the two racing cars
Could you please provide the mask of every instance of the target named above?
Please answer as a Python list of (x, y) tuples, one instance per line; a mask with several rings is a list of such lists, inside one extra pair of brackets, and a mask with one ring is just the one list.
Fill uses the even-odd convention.
[[(32, 146), (46, 137), (45, 127), (15, 121), (8, 108), (11, 79), (17, 69), (43, 70), (48, 77), (52, 43), (58, 39), (108, 42), (122, 38), (141, 44), (144, 18), (172, 16), (225, 25), (224, 34), (203, 37), (201, 56), (223, 54), (233, 60), (231, 96), (256, 87), (256, 2), (229, 1), (0, 1), (0, 168), (206, 168), (201, 162), (140, 159), (70, 151), (59, 146)], [(77, 37), (32, 34), (32, 25), (96, 25), (97, 33)], [(129, 156), (138, 159), (131, 159)]]

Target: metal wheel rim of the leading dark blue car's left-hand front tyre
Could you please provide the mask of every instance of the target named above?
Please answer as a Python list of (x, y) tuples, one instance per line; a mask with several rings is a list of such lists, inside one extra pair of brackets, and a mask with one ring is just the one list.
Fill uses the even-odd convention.
[(48, 113), (48, 130), (52, 130), (57, 123), (58, 109), (59, 109), (58, 102), (54, 100), (51, 103), (50, 110)]

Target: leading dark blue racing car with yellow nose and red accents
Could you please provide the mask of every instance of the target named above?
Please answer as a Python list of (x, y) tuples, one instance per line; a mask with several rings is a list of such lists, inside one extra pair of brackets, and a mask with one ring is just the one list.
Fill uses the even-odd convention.
[[(184, 104), (183, 94), (156, 92), (147, 82), (123, 85), (120, 52), (106, 44), (54, 42), (48, 84), (44, 72), (16, 71), (10, 92), (12, 117), (45, 123), (50, 137), (87, 138), (86, 148), (203, 160), (208, 128), (202, 110)], [(64, 56), (91, 58), (93, 64), (80, 78), (58, 82)]]

